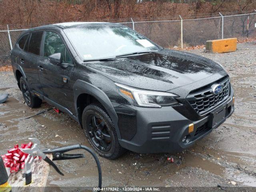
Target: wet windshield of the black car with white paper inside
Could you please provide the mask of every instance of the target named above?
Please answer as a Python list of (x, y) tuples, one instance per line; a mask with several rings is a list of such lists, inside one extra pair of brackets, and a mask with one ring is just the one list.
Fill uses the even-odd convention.
[(153, 42), (125, 26), (83, 26), (68, 28), (64, 32), (82, 60), (158, 50)]

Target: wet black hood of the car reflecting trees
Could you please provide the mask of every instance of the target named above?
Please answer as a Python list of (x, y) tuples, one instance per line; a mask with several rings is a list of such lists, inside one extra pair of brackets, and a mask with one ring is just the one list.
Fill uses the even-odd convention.
[(114, 82), (157, 91), (191, 84), (223, 70), (218, 63), (202, 56), (166, 49), (87, 66)]

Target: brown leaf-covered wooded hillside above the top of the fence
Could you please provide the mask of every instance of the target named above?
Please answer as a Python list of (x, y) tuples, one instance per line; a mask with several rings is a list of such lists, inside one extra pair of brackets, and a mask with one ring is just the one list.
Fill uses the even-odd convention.
[(0, 25), (199, 18), (255, 9), (256, 0), (0, 0)]

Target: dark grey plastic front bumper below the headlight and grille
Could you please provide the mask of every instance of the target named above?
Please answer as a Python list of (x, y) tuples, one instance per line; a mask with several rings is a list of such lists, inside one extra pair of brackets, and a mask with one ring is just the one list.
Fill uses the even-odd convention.
[[(234, 112), (233, 96), (234, 91), (231, 88), (228, 99), (212, 110), (215, 112), (226, 108), (226, 116), (214, 128), (220, 126)], [(119, 142), (122, 147), (137, 153), (179, 152), (212, 132), (214, 128), (209, 126), (211, 121), (210, 113), (198, 121), (192, 121), (172, 107), (136, 107), (136, 133), (131, 140), (120, 138)], [(188, 126), (192, 123), (194, 131), (189, 133)], [(122, 123), (118, 124), (122, 132)], [(186, 142), (182, 142), (184, 136), (187, 136)]]

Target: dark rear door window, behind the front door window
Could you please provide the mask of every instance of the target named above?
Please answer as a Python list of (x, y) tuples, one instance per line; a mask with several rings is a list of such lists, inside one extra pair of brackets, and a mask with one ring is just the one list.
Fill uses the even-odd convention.
[(28, 45), (28, 52), (40, 55), (42, 36), (43, 32), (34, 32), (31, 34)]

